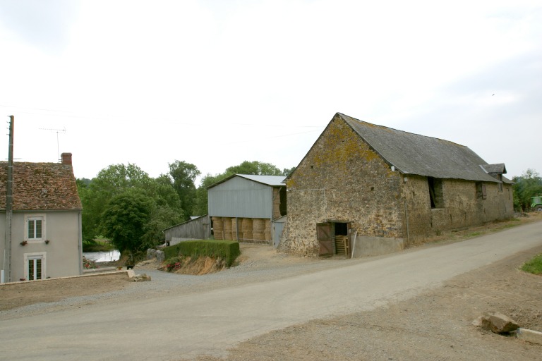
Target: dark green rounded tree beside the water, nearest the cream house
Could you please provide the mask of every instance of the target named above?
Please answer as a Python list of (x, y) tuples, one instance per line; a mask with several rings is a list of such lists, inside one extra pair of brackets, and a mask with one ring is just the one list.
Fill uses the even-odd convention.
[(153, 246), (144, 236), (154, 210), (152, 198), (141, 190), (129, 189), (109, 201), (100, 228), (121, 253), (145, 250)]

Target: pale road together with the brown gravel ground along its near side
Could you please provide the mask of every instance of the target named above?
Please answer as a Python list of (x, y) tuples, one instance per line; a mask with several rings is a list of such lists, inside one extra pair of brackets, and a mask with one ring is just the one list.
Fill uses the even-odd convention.
[(541, 231), (371, 259), (273, 253), (206, 276), (139, 269), (152, 281), (0, 312), (0, 360), (541, 360), (471, 325), (496, 310), (542, 329), (542, 278), (517, 271)]

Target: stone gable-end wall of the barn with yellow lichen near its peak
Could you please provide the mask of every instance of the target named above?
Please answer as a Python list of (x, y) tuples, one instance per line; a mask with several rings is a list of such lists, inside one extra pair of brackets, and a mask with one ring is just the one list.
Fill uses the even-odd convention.
[(317, 256), (316, 224), (350, 221), (358, 235), (402, 238), (402, 177), (344, 121), (332, 121), (287, 181), (280, 249)]

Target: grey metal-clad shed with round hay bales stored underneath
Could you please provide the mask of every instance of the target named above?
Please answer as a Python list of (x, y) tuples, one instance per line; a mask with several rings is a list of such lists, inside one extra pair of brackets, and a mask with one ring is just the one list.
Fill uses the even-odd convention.
[(207, 196), (215, 239), (272, 244), (272, 221), (286, 214), (284, 178), (234, 174), (210, 185)]

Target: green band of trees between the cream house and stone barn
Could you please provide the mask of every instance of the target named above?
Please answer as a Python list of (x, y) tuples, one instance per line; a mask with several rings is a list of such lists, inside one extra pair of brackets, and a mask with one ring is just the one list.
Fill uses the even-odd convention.
[(124, 251), (143, 251), (163, 240), (162, 231), (207, 214), (207, 187), (233, 174), (287, 176), (295, 169), (280, 170), (260, 161), (243, 161), (224, 173), (203, 176), (186, 161), (169, 164), (169, 172), (151, 178), (135, 164), (114, 164), (92, 180), (77, 179), (83, 203), (83, 242), (98, 236), (112, 240)]

